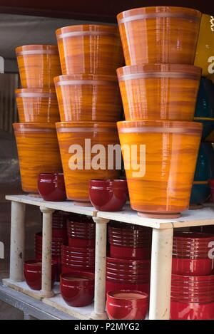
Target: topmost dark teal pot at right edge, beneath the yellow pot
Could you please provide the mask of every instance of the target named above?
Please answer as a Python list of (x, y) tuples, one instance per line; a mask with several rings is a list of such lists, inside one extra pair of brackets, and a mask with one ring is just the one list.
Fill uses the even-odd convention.
[(214, 118), (214, 85), (206, 78), (200, 79), (195, 118)]

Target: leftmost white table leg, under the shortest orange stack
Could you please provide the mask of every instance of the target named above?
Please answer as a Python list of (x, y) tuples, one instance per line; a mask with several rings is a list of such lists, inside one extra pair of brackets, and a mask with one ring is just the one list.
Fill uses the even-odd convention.
[(26, 204), (11, 202), (10, 279), (14, 282), (24, 281), (25, 209)]

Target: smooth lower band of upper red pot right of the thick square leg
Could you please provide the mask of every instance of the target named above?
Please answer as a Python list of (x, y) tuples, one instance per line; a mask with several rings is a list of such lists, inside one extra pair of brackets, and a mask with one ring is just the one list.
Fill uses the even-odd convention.
[(173, 258), (172, 273), (188, 276), (206, 276), (213, 270), (213, 261), (210, 259), (176, 259)]

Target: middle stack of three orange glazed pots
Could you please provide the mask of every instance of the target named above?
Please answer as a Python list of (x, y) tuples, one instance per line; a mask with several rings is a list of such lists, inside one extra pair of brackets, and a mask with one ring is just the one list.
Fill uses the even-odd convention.
[[(56, 130), (66, 194), (87, 206), (90, 179), (114, 179), (120, 172), (108, 169), (107, 154), (108, 145), (119, 142), (116, 68), (123, 65), (123, 50), (116, 26), (67, 26), (56, 31), (56, 38), (63, 74), (54, 78), (61, 118)], [(103, 162), (94, 167), (98, 152)]]

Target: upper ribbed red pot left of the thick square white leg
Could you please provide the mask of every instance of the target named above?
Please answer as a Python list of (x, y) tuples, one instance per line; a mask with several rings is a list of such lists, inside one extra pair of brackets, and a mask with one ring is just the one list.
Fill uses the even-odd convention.
[(116, 259), (151, 259), (151, 229), (131, 224), (110, 223), (110, 256)]

